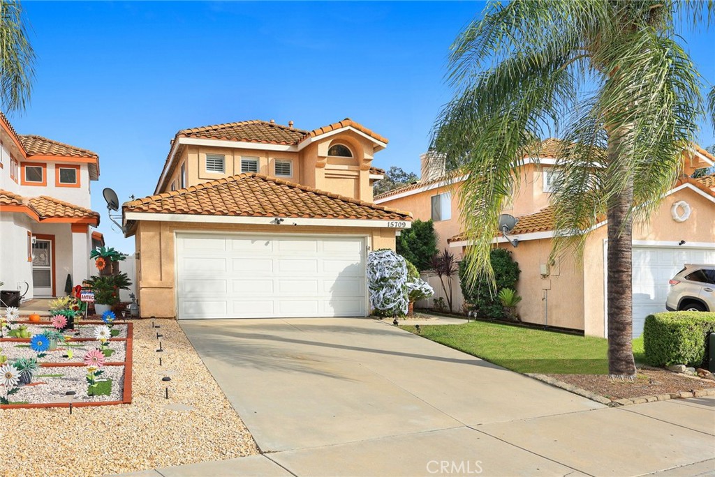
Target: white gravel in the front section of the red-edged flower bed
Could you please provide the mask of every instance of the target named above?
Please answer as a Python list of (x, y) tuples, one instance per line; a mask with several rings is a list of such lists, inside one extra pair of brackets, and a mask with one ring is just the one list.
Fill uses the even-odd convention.
[[(87, 396), (87, 371), (84, 368), (70, 366), (39, 368), (32, 378), (33, 386), (21, 386), (20, 391), (10, 397), (12, 402), (28, 403), (66, 403), (69, 399), (66, 391), (74, 391), (72, 402), (122, 401), (124, 390), (124, 366), (104, 366), (101, 379), (112, 380), (112, 392), (109, 396)], [(74, 411), (72, 411), (74, 412)]]

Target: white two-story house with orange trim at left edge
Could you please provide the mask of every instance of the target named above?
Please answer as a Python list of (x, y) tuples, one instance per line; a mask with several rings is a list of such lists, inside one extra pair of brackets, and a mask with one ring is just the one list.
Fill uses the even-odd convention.
[(64, 295), (89, 276), (92, 227), (90, 183), (99, 156), (41, 136), (17, 134), (0, 113), (0, 281), (24, 299)]

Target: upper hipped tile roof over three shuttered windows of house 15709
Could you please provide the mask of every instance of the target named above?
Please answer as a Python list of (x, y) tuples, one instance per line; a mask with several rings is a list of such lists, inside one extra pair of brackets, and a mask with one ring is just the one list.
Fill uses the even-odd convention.
[(263, 144), (297, 144), (306, 134), (308, 131), (302, 129), (253, 120), (182, 129), (176, 136)]

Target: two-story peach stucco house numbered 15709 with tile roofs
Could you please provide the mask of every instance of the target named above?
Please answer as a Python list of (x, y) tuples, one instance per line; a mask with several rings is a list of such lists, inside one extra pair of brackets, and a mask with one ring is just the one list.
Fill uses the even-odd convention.
[(122, 206), (142, 316), (365, 316), (368, 251), (411, 220), (373, 204), (387, 144), (350, 119), (179, 131), (154, 195)]

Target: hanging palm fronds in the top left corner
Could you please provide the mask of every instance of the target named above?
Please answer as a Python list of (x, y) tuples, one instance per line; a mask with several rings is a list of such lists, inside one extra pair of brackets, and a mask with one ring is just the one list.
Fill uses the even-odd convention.
[(19, 1), (0, 0), (0, 107), (21, 111), (30, 99), (35, 53)]

